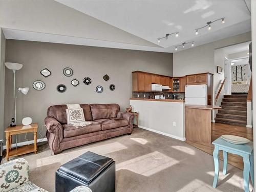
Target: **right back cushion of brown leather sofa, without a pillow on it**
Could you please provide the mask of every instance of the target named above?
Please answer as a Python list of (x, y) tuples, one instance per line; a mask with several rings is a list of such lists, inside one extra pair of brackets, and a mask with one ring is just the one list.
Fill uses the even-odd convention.
[(120, 107), (117, 104), (91, 104), (93, 121), (101, 118), (117, 117)]

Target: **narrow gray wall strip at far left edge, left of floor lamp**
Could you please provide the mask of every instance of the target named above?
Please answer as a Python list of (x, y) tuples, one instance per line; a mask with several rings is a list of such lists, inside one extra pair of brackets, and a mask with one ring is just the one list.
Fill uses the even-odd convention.
[(4, 138), (5, 35), (0, 28), (0, 139)]

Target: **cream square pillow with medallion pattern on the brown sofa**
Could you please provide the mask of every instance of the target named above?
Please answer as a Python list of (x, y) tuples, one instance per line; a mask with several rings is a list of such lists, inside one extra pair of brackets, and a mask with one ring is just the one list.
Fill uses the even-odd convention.
[(86, 119), (84, 118), (83, 109), (66, 109), (67, 113), (67, 123), (80, 123), (85, 122)]

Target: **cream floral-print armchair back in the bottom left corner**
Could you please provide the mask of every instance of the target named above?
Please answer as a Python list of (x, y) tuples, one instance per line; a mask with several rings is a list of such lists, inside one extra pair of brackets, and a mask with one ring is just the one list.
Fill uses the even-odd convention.
[(23, 159), (15, 159), (0, 165), (0, 189), (9, 191), (29, 181), (29, 165)]

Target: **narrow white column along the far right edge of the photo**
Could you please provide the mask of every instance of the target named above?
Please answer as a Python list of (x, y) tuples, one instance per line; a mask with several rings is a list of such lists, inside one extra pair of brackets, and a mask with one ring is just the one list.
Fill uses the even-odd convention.
[[(253, 111), (256, 109), (256, 0), (251, 0), (251, 43), (252, 43), (252, 103)], [(252, 119), (256, 125), (256, 113)], [(256, 149), (256, 132), (253, 131), (253, 148)], [(256, 157), (254, 155), (254, 183), (256, 181)], [(254, 187), (255, 188), (255, 187)]]

